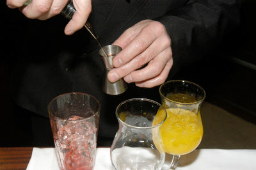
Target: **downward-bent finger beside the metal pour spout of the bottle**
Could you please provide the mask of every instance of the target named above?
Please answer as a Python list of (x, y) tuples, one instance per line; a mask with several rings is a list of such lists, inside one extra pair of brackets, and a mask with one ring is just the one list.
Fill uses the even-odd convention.
[(73, 4), (76, 8), (76, 12), (65, 27), (64, 32), (66, 35), (72, 35), (74, 32), (81, 29), (92, 12), (91, 0), (74, 0)]

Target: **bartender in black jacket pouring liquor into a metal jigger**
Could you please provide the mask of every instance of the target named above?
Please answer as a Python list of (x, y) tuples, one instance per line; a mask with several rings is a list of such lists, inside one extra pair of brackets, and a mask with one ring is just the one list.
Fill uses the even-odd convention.
[[(207, 56), (239, 24), (236, 0), (73, 0), (76, 12), (68, 21), (58, 15), (68, 0), (33, 0), (24, 5), (26, 1), (6, 0), (6, 4), (29, 19), (45, 20), (24, 23), (27, 29), (20, 35), (24, 47), (12, 76), (13, 99), (32, 113), (34, 146), (52, 144), (47, 104), (72, 91), (99, 100), (98, 146), (110, 146), (120, 102), (134, 97), (159, 102), (160, 84)], [(102, 92), (104, 65), (99, 45), (82, 29), (87, 20), (104, 45), (122, 47), (108, 73), (111, 82), (124, 78), (129, 83), (122, 95)]]

